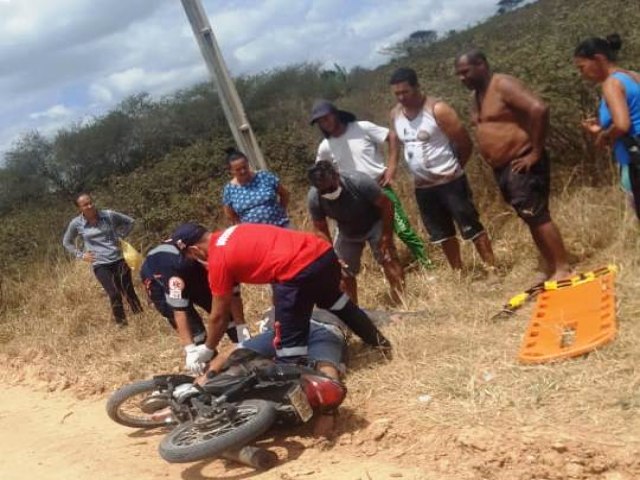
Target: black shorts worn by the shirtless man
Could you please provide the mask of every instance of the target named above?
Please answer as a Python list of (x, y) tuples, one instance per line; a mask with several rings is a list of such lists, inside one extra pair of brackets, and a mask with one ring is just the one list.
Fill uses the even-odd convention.
[(544, 152), (542, 158), (534, 163), (528, 172), (514, 173), (511, 170), (511, 162), (493, 170), (502, 197), (530, 227), (551, 221), (549, 164), (549, 156)]

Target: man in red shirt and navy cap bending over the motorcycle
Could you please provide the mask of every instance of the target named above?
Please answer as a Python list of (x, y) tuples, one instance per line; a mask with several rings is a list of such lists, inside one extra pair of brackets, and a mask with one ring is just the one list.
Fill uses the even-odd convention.
[(276, 321), (276, 357), (307, 355), (309, 320), (314, 305), (330, 310), (362, 340), (375, 347), (391, 344), (349, 297), (340, 291), (340, 263), (331, 244), (307, 232), (272, 225), (240, 224), (208, 232), (186, 223), (171, 237), (185, 255), (207, 262), (213, 309), (200, 361), (210, 360), (227, 325), (232, 290), (238, 283), (272, 284)]

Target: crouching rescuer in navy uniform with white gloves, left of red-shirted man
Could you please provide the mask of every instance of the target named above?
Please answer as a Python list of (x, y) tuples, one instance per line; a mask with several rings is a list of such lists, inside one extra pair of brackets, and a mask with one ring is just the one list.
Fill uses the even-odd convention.
[[(195, 260), (180, 255), (175, 245), (164, 242), (147, 253), (140, 277), (149, 300), (177, 331), (185, 350), (187, 369), (193, 374), (201, 373), (204, 365), (198, 361), (196, 347), (204, 343), (207, 332), (195, 306), (211, 312), (207, 270)], [(249, 338), (239, 287), (234, 290), (231, 310), (234, 321), (227, 335), (237, 343)]]

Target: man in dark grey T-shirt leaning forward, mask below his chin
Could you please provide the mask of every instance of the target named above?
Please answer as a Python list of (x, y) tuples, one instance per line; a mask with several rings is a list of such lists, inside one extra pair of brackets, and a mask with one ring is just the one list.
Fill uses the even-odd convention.
[(390, 287), (390, 296), (399, 304), (404, 292), (404, 272), (393, 245), (393, 203), (380, 186), (357, 171), (338, 174), (328, 160), (320, 160), (309, 169), (308, 205), (313, 225), (331, 241), (327, 217), (337, 222), (333, 248), (343, 262), (346, 293), (358, 303), (356, 275), (365, 243), (369, 243), (376, 261), (382, 266)]

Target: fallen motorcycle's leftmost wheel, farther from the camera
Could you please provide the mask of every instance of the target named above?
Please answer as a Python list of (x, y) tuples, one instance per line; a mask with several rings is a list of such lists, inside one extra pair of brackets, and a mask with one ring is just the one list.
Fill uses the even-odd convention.
[[(114, 422), (131, 428), (158, 428), (172, 423), (164, 418), (154, 418), (154, 412), (145, 412), (145, 402), (149, 404), (149, 397), (157, 388), (153, 380), (141, 380), (119, 388), (107, 400), (107, 415)], [(158, 398), (156, 410), (164, 407), (162, 401)], [(168, 405), (166, 401), (165, 406)]]

